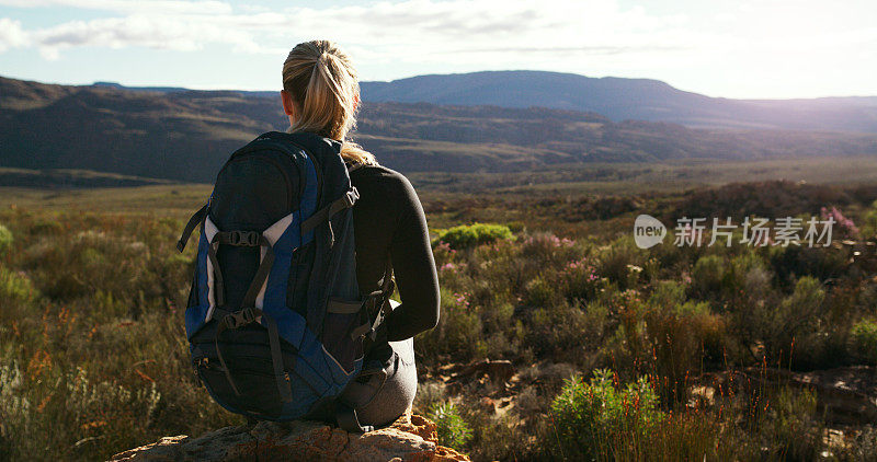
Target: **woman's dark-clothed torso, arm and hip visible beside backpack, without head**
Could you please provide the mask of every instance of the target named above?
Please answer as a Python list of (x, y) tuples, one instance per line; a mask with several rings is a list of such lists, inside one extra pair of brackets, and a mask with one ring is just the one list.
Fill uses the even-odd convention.
[(364, 376), (343, 397), (371, 425), (392, 421), (417, 392), (413, 336), (438, 322), (438, 277), (426, 218), (411, 183), (399, 172), (362, 165), (351, 172), (360, 192), (353, 207), (356, 276), (365, 294), (380, 287), (390, 259), (401, 304), (378, 328)]

